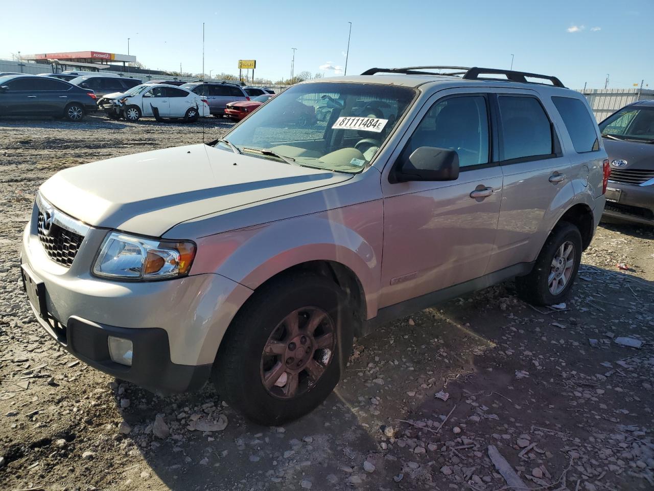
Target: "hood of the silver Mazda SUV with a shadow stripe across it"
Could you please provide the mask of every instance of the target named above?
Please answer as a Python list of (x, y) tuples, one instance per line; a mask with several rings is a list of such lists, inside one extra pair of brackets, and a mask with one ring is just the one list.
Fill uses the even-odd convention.
[(198, 144), (65, 169), (50, 177), (40, 192), (88, 225), (158, 237), (202, 215), (351, 177)]

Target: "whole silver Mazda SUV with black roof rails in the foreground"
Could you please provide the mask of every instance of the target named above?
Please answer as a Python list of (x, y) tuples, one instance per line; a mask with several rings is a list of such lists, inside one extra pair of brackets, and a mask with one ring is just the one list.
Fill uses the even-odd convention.
[(281, 424), (381, 323), (513, 277), (528, 302), (565, 299), (608, 172), (585, 98), (556, 77), (370, 69), (296, 84), (209, 144), (57, 173), (23, 279), (89, 365), (168, 392), (211, 378)]

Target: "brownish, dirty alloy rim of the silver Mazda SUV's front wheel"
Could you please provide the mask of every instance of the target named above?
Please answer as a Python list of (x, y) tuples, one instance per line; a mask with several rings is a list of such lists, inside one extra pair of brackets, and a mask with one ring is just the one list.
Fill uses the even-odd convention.
[(313, 388), (334, 359), (336, 329), (318, 307), (294, 310), (275, 327), (261, 355), (264, 388), (279, 399), (294, 399)]

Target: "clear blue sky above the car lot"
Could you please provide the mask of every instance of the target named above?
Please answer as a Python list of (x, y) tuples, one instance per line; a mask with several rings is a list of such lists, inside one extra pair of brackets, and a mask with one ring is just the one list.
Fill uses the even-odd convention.
[[(61, 8), (51, 0), (3, 4), (0, 59), (95, 50), (129, 54), (146, 67), (256, 77), (342, 75), (370, 67), (461, 65), (556, 75), (571, 88), (654, 89), (653, 0), (114, 0)], [(86, 5), (86, 7), (84, 7)]]

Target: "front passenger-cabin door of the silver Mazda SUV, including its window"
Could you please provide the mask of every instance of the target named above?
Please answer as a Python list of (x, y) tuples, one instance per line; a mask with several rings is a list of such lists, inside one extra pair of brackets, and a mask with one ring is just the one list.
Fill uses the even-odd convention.
[(419, 147), (447, 148), (458, 154), (460, 175), (455, 181), (405, 183), (382, 177), (380, 308), (485, 274), (502, 198), (489, 114), (487, 94), (445, 90), (409, 128), (398, 163)]

